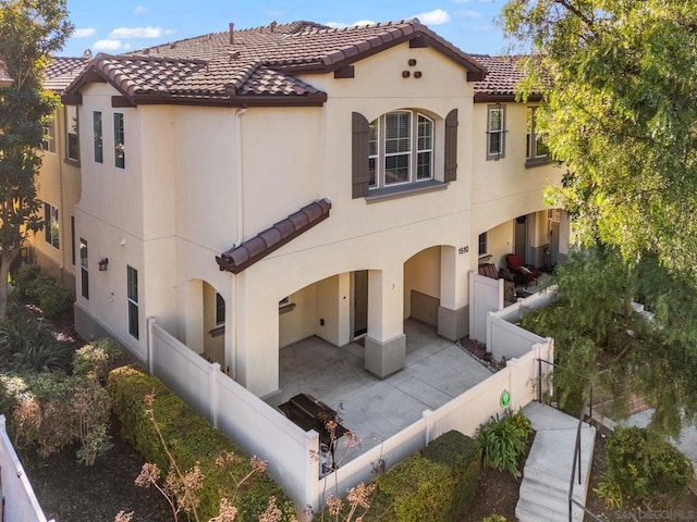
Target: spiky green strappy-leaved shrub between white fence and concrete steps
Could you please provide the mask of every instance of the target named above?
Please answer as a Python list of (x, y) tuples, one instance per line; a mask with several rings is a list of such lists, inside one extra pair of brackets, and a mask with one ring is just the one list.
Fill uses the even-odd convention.
[(527, 439), (533, 432), (530, 421), (521, 412), (506, 411), (497, 414), (479, 426), (477, 444), (481, 449), (484, 465), (499, 471), (508, 471), (518, 477), (518, 458), (527, 449)]

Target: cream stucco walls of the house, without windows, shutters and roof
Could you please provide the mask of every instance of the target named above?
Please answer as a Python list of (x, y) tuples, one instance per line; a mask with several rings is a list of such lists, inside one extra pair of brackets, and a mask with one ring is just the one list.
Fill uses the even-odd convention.
[[(403, 71), (412, 73), (408, 78)], [(279, 346), (308, 335), (338, 345), (350, 340), (353, 271), (369, 271), (368, 327), (377, 341), (403, 334), (412, 289), (462, 310), (478, 234), (503, 224), (490, 241), (496, 251), (510, 250), (511, 220), (545, 208), (547, 172), (523, 166), (523, 107), (508, 114), (505, 160), (481, 160), (486, 107), (473, 103), (465, 77), (460, 65), (432, 49), (404, 44), (357, 62), (351, 79), (304, 76), (328, 92), (321, 108), (114, 110), (117, 91), (90, 84), (83, 89), (81, 115), (91, 122), (91, 111), (102, 111), (105, 163), (85, 160), (91, 152), (89, 124), (81, 133), (76, 220), (78, 236), (89, 241), (90, 299), (78, 297), (81, 306), (143, 352), (150, 315), (181, 340), (200, 337), (203, 291), (192, 283), (206, 282), (225, 299), (227, 362), (261, 396), (278, 388)], [(398, 109), (429, 114), (436, 121), (436, 178), (442, 179), (443, 119), (455, 108), (456, 182), (399, 198), (352, 199), (352, 112), (368, 121)], [(124, 170), (112, 166), (114, 111), (125, 115)], [(332, 203), (328, 220), (241, 274), (220, 272), (215, 256), (323, 197)], [(109, 258), (107, 272), (96, 268), (102, 257)], [(126, 264), (139, 275), (139, 341), (125, 333)], [(286, 296), (295, 308), (279, 316), (278, 301)]]

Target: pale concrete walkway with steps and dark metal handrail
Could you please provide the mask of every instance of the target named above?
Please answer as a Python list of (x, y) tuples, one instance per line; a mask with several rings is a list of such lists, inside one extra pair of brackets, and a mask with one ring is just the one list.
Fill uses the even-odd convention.
[[(515, 515), (519, 522), (567, 522), (578, 419), (538, 402), (530, 402), (523, 408), (523, 413), (537, 433), (525, 462)], [(586, 502), (595, 440), (596, 428), (584, 422), (580, 430), (580, 485), (578, 468), (574, 477), (574, 498), (582, 505)], [(576, 506), (573, 520), (584, 520), (583, 510)]]

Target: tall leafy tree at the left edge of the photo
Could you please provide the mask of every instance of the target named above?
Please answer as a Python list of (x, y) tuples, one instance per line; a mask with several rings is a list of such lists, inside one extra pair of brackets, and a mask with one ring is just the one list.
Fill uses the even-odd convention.
[(0, 89), (0, 321), (10, 265), (44, 226), (34, 185), (37, 150), (59, 101), (44, 89), (44, 72), (72, 30), (65, 0), (0, 0), (0, 57), (14, 79)]

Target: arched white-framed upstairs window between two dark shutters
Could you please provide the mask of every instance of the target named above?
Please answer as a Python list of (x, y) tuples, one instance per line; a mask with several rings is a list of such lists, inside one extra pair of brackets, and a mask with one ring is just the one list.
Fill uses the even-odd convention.
[(368, 127), (370, 188), (433, 178), (433, 120), (417, 111), (388, 112)]

